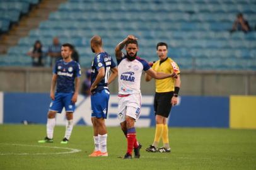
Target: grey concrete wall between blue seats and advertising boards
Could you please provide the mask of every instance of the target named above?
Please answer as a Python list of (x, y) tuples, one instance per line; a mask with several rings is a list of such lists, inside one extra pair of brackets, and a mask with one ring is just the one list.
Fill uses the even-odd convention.
[[(84, 69), (81, 80), (84, 79)], [(49, 93), (52, 70), (50, 68), (0, 68), (0, 91)], [(256, 95), (256, 71), (182, 71), (182, 95), (230, 96)], [(81, 82), (82, 82), (81, 81)], [(110, 93), (117, 94), (118, 84), (110, 84)], [(141, 81), (143, 94), (154, 94), (154, 80)]]

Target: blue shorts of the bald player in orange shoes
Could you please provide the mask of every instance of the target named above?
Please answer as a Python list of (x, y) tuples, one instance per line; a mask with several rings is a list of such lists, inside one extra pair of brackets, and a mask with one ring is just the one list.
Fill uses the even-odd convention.
[(91, 116), (96, 118), (107, 118), (108, 100), (110, 93), (108, 89), (97, 91), (91, 95)]

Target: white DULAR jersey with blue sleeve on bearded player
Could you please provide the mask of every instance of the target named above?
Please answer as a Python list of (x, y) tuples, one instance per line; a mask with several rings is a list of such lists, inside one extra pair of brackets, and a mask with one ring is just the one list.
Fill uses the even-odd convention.
[(117, 64), (119, 94), (141, 93), (141, 74), (151, 68), (148, 62), (139, 57), (130, 61), (123, 55)]

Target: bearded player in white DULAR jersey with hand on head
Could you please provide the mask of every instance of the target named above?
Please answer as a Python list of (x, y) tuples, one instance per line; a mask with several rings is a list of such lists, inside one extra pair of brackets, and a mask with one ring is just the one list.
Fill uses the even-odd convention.
[[(122, 52), (125, 47), (126, 54)], [(137, 38), (134, 35), (128, 35), (117, 47), (115, 47), (115, 57), (118, 65), (119, 82), (119, 107), (118, 117), (122, 131), (127, 138), (127, 152), (124, 159), (132, 158), (132, 149), (134, 157), (139, 158), (142, 145), (137, 142), (136, 130), (134, 124), (141, 114), (141, 74), (145, 71), (155, 79), (165, 79), (168, 77), (177, 77), (177, 74), (165, 74), (156, 72), (149, 66), (146, 60), (137, 57), (139, 50)]]

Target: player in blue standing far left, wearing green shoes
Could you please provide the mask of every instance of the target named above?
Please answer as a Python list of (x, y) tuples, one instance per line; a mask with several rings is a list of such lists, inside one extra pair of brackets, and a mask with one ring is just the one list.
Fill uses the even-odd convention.
[[(73, 45), (64, 43), (61, 47), (62, 60), (58, 60), (54, 66), (52, 82), (50, 86), (50, 103), (47, 118), (47, 136), (38, 143), (53, 142), (55, 115), (61, 113), (62, 109), (66, 110), (66, 132), (61, 144), (67, 144), (73, 130), (73, 112), (75, 103), (78, 99), (78, 90), (80, 84), (81, 67), (71, 59), (74, 50)], [(57, 82), (57, 89), (55, 86)]]

